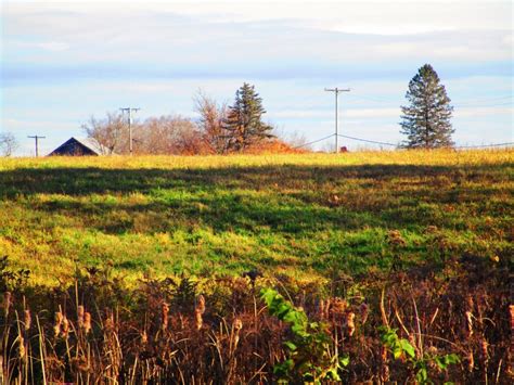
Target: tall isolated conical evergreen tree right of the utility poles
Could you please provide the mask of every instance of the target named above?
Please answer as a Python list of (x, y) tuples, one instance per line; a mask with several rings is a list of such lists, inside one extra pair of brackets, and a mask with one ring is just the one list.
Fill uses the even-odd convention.
[(454, 132), (450, 118), (453, 107), (432, 65), (425, 64), (409, 82), (409, 106), (401, 106), (401, 133), (408, 136), (408, 149), (452, 146)]

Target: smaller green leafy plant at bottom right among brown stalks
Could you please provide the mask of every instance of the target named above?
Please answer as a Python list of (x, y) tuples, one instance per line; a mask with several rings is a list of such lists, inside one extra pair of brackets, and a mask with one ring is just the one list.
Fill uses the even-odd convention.
[(423, 354), (423, 357), (416, 357), (415, 348), (406, 339), (398, 337), (396, 329), (386, 326), (380, 328), (382, 331), (381, 339), (384, 346), (393, 354), (395, 359), (400, 359), (412, 364), (415, 371), (415, 380), (420, 384), (433, 384), (428, 377), (428, 368), (437, 367), (441, 371), (448, 370), (452, 363), (459, 363), (460, 358), (455, 354), (438, 356), (432, 352)]

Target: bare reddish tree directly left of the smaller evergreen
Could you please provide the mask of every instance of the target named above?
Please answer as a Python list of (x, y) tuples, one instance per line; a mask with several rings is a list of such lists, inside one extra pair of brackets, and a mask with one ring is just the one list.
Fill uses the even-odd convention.
[(213, 98), (198, 91), (193, 98), (194, 108), (200, 114), (197, 126), (209, 151), (222, 154), (227, 150), (228, 138), (223, 131), (223, 121), (227, 118), (227, 104), (219, 104)]

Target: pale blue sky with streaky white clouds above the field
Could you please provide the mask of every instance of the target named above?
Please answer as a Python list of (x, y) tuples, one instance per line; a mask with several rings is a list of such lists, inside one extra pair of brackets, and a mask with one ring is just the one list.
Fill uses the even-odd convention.
[[(255, 85), (285, 137), (398, 143), (409, 80), (429, 63), (459, 145), (512, 142), (512, 1), (15, 1), (0, 9), (0, 132), (40, 153), (119, 107), (195, 118), (198, 90)], [(339, 139), (349, 150), (380, 145)], [(313, 146), (329, 150), (333, 139)]]

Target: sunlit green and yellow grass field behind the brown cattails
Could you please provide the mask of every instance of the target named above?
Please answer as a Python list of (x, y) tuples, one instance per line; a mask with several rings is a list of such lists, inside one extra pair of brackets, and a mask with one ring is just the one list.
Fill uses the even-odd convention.
[(506, 259), (513, 155), (1, 159), (0, 255), (44, 285), (107, 264), (129, 281), (252, 268), (319, 281)]

